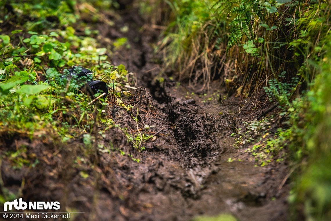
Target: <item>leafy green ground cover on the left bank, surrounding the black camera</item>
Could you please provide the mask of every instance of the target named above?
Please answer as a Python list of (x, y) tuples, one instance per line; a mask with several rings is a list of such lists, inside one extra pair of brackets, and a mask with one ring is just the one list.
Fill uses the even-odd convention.
[[(101, 152), (116, 151), (139, 161), (112, 144), (107, 144), (106, 148), (98, 142), (112, 127), (125, 131), (128, 142), (134, 144), (137, 141), (130, 138), (140, 134), (139, 131), (126, 132), (127, 128), (119, 127), (106, 116), (105, 107), (110, 103), (126, 111), (135, 110), (123, 100), (130, 96), (127, 87), (133, 85), (134, 75), (123, 65), (114, 66), (110, 62), (111, 47), (101, 47), (96, 38), (98, 31), (81, 18), (85, 12), (94, 16), (94, 21), (111, 25), (110, 20), (98, 17), (97, 11), (98, 7), (110, 7), (112, 2), (95, 1), (94, 5), (83, 2), (79, 9), (74, 9), (74, 4), (71, 1), (1, 2), (1, 136), (5, 140), (16, 136), (27, 137), (29, 142), (43, 140), (60, 150), (64, 145), (82, 140), (88, 151), (77, 156), (78, 162), (86, 162), (84, 158), (94, 153), (94, 146)], [(80, 14), (73, 13), (75, 10)], [(114, 40), (112, 47), (120, 47), (117, 42)], [(73, 65), (91, 69), (94, 79), (106, 82), (110, 91), (106, 101), (102, 98), (93, 100), (94, 97), (81, 91), (86, 82), (71, 77), (68, 68)], [(138, 114), (138, 109), (136, 112)], [(151, 138), (141, 136), (135, 146), (139, 149)], [(29, 152), (26, 145), (2, 151), (14, 169), (34, 168), (40, 163), (36, 154), (26, 154)], [(88, 177), (84, 170), (80, 174)], [(9, 191), (2, 182), (1, 203), (16, 199), (20, 192)]]

